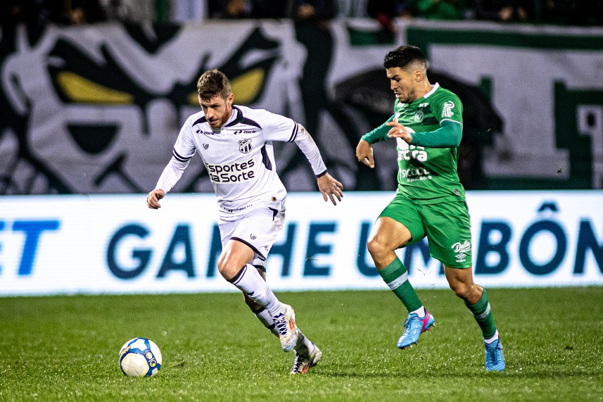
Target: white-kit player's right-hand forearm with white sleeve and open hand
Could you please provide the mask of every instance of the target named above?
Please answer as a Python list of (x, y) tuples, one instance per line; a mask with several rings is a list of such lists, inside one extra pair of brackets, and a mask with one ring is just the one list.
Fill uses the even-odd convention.
[(310, 162), (310, 165), (312, 165), (312, 170), (317, 177), (318, 189), (322, 193), (322, 198), (324, 201), (330, 199), (333, 205), (337, 205), (335, 199), (341, 201), (341, 198), (343, 197), (343, 184), (329, 175), (314, 139), (312, 139), (312, 136), (305, 130), (303, 125), (300, 125), (299, 123), (296, 124), (298, 125), (295, 137), (296, 145), (303, 152), (307, 161)]

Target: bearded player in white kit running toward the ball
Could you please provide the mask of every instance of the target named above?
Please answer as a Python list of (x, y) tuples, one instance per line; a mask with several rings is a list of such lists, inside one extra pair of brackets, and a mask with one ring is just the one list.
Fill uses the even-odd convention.
[(322, 353), (298, 329), (293, 308), (281, 303), (265, 281), (265, 260), (283, 228), (287, 195), (277, 175), (272, 142), (297, 144), (312, 165), (324, 201), (330, 199), (336, 205), (343, 197), (343, 186), (326, 171), (318, 147), (302, 125), (263, 109), (234, 106), (224, 73), (206, 71), (197, 91), (202, 111), (182, 126), (172, 159), (148, 193), (148, 208), (160, 208), (159, 200), (198, 152), (220, 208), (218, 271), (243, 292), (253, 313), (279, 337), (283, 350), (296, 351), (291, 374), (305, 374), (322, 359)]

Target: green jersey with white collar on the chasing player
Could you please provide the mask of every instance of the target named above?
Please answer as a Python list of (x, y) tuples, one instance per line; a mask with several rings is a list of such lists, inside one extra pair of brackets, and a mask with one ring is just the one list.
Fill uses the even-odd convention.
[[(413, 135), (412, 144), (396, 139), (399, 194), (424, 204), (464, 201), (465, 191), (457, 173), (458, 146), (446, 146), (449, 138), (438, 138), (438, 133), (431, 133), (440, 129), (440, 123), (445, 120), (462, 127), (462, 113), (459, 97), (438, 84), (412, 103), (400, 103), (396, 99), (394, 115), (388, 122), (395, 118), (409, 132), (421, 133)], [(362, 139), (369, 144), (389, 139), (387, 133), (391, 127), (386, 123)]]

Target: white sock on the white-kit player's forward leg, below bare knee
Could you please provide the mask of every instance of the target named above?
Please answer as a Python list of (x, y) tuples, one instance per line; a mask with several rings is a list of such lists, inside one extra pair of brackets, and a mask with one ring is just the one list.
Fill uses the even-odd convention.
[(253, 265), (245, 265), (229, 282), (239, 288), (249, 299), (268, 310), (273, 317), (285, 312), (284, 304), (277, 299), (277, 296), (274, 296), (260, 272)]

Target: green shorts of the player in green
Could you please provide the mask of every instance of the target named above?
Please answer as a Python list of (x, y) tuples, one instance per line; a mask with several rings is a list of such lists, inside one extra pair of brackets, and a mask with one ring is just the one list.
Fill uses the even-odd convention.
[(464, 201), (419, 204), (396, 194), (382, 216), (410, 230), (412, 237), (405, 246), (427, 237), (433, 258), (449, 268), (471, 268), (471, 221)]

